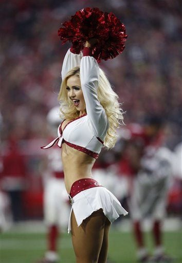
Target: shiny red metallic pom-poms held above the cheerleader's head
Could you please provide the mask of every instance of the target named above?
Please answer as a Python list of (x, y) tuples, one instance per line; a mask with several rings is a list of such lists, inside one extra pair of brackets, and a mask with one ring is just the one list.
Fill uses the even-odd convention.
[(125, 26), (114, 13), (104, 13), (98, 8), (83, 8), (71, 16), (69, 21), (62, 24), (58, 35), (63, 44), (72, 43), (72, 49), (79, 53), (87, 40), (98, 40), (93, 46), (92, 55), (101, 60), (114, 59), (124, 50), (127, 39)]

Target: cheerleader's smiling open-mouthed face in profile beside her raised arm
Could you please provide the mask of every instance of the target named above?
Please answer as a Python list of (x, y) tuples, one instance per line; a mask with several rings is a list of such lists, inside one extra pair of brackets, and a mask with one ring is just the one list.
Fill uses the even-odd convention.
[(67, 79), (66, 89), (68, 98), (74, 102), (75, 107), (80, 111), (80, 116), (85, 114), (86, 105), (79, 76), (74, 75), (69, 77)]

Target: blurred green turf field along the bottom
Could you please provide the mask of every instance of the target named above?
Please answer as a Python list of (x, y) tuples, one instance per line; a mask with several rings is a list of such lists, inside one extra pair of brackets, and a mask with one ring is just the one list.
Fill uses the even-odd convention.
[[(166, 251), (176, 259), (174, 263), (182, 262), (182, 231), (165, 232), (164, 242)], [(152, 240), (148, 232), (145, 233), (146, 242), (152, 252)], [(46, 248), (44, 233), (17, 233), (15, 230), (1, 234), (1, 263), (35, 263), (43, 256)], [(71, 238), (62, 234), (59, 241), (60, 262), (75, 262)], [(130, 232), (120, 232), (112, 229), (110, 232), (110, 248), (108, 261), (118, 263), (134, 263), (135, 244)]]

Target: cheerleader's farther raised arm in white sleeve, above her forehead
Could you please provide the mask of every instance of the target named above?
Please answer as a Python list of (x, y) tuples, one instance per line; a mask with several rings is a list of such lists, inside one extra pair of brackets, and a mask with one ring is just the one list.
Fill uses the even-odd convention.
[(80, 66), (80, 61), (82, 57), (83, 57), (82, 52), (80, 52), (79, 54), (76, 54), (71, 48), (68, 49), (64, 57), (62, 70), (61, 70), (62, 80), (64, 79), (64, 77), (66, 76), (66, 73), (69, 70), (71, 70), (74, 67)]

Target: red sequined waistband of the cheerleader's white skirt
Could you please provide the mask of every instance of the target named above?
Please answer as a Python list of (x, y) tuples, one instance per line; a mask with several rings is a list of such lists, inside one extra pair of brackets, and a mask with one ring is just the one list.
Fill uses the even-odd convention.
[(89, 189), (92, 187), (98, 187), (98, 186), (102, 186), (102, 185), (92, 178), (79, 179), (71, 185), (69, 196), (73, 198), (75, 195), (77, 195), (78, 193), (86, 189)]

